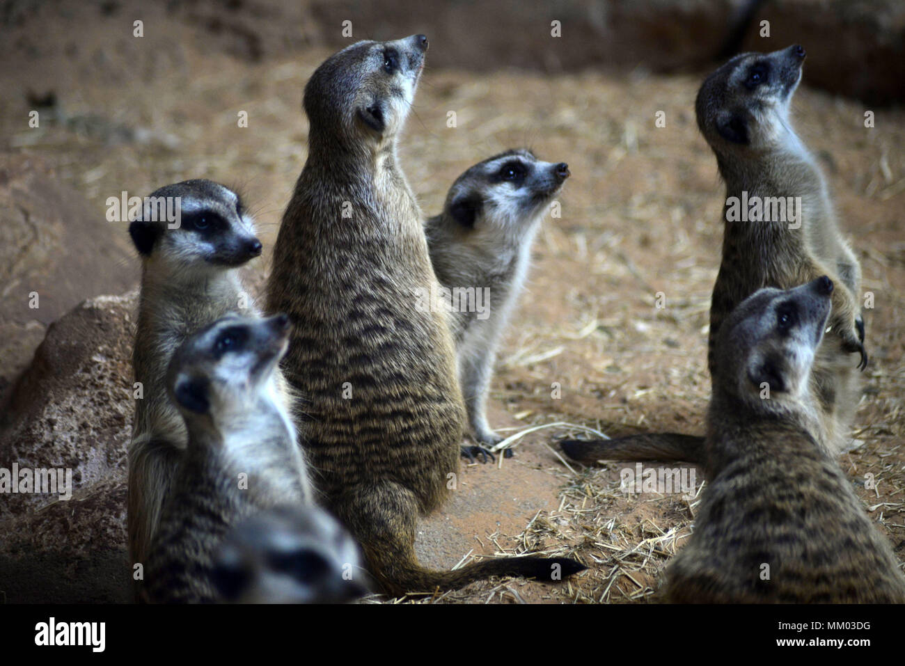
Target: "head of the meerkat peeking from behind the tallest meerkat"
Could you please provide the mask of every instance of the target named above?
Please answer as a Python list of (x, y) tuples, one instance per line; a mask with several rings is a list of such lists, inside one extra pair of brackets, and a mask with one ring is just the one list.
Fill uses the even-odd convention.
[(508, 150), (459, 176), (446, 195), (443, 214), (462, 233), (521, 236), (538, 222), (570, 175), (565, 162), (542, 162), (529, 150)]

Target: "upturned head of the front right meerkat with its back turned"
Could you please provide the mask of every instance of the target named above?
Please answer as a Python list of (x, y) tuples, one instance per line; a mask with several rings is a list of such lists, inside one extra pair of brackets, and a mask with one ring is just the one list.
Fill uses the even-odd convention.
[(758, 407), (800, 403), (832, 293), (833, 281), (824, 275), (795, 289), (758, 290), (742, 301), (719, 330), (714, 385)]

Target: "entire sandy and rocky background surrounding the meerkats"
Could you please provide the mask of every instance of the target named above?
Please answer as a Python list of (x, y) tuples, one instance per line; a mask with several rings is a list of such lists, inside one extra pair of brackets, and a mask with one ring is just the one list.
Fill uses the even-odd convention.
[[(0, 592), (129, 599), (138, 262), (126, 225), (106, 220), (108, 197), (191, 177), (239, 187), (265, 244), (247, 271), (260, 288), (305, 159), (305, 81), (348, 43), (412, 33), (430, 50), (400, 155), (425, 214), (465, 168), (509, 147), (573, 173), (500, 353), (490, 414), (508, 433), (558, 422), (700, 433), (723, 190), (694, 96), (735, 52), (805, 46), (796, 128), (875, 298), (856, 422), (866, 443), (843, 465), (865, 499), (863, 475), (883, 481), (868, 505), (905, 559), (905, 3), (0, 0), (0, 467), (63, 465), (76, 485), (70, 502), (0, 496)], [(420, 557), (452, 566), (511, 539), (603, 563), (566, 590), (519, 586), (519, 598), (650, 595), (691, 509), (620, 493), (614, 466), (566, 468), (549, 444), (567, 432), (527, 436), (502, 469), (468, 468), (472, 490), (424, 522)], [(514, 599), (470, 590), (446, 600)]]

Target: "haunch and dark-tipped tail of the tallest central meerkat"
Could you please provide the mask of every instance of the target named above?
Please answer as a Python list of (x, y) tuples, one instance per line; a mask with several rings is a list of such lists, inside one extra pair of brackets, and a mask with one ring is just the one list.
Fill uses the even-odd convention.
[(418, 500), (393, 481), (345, 493), (338, 509), (338, 518), (362, 544), (371, 575), (390, 595), (454, 590), (490, 576), (558, 582), (587, 568), (567, 557), (523, 556), (476, 562), (454, 571), (426, 569), (414, 554)]

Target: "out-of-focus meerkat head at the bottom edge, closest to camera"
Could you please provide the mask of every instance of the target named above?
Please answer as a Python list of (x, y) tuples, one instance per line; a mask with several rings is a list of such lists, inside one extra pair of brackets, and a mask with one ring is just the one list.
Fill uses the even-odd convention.
[(355, 540), (314, 505), (245, 520), (218, 549), (212, 577), (224, 601), (244, 604), (342, 604), (369, 587)]

